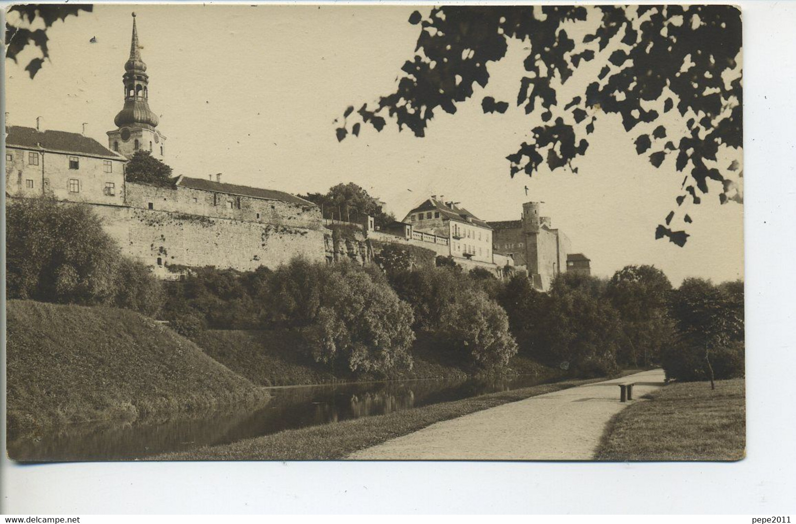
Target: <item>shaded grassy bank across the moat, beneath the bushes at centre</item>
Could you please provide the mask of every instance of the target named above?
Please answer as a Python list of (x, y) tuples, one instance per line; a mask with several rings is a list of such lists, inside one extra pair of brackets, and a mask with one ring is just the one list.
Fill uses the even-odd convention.
[[(330, 370), (302, 355), (300, 334), (295, 331), (207, 330), (193, 337), (207, 354), (230, 370), (260, 385), (324, 384), (338, 381), (383, 380), (380, 376), (355, 376), (348, 370)], [(415, 364), (410, 371), (392, 373), (390, 379), (466, 378), (457, 363), (435, 350), (434, 343), (420, 334), (412, 348)], [(545, 373), (544, 366), (527, 358), (510, 363), (515, 373)]]

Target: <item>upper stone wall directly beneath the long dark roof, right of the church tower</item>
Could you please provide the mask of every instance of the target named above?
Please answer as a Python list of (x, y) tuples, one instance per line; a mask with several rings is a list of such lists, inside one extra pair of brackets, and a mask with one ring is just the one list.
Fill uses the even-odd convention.
[(127, 205), (140, 209), (228, 218), (292, 228), (323, 228), (317, 205), (236, 196), (182, 186), (150, 186), (127, 182)]

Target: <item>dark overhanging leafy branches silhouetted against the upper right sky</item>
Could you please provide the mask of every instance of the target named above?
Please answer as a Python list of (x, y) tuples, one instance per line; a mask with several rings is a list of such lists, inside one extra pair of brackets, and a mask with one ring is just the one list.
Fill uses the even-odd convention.
[[(420, 34), (395, 92), (376, 104), (347, 108), (338, 140), (358, 136), (363, 123), (381, 131), (387, 118), (424, 136), (437, 111), (453, 114), (474, 95), (475, 84), (486, 87), (488, 65), (503, 59), (515, 39), (529, 42), (516, 104), (536, 118), (525, 141), (506, 156), (512, 177), (533, 175), (544, 163), (577, 173), (573, 160), (586, 154), (587, 136), (612, 113), (621, 117), (638, 154), (656, 168), (673, 158), (674, 169), (684, 173), (676, 174), (678, 207), (689, 197), (699, 204), (708, 179), (722, 182), (720, 203), (741, 201), (728, 174), (738, 162), (718, 163), (720, 148), (739, 151), (743, 138), (735, 7), (443, 6), (425, 18), (415, 11), (408, 22), (419, 25)], [(560, 87), (590, 61), (605, 64), (599, 75), (571, 100), (560, 100)], [(491, 96), (481, 104), (485, 113), (509, 109)], [(669, 111), (687, 121), (685, 131), (659, 124)], [(682, 246), (689, 235), (669, 228), (673, 216), (665, 217), (655, 236)], [(683, 221), (691, 218), (685, 214)]]

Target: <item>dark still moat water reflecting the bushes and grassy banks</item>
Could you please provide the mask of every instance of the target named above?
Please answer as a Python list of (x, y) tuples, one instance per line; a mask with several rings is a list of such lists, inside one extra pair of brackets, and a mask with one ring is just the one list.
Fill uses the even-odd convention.
[(548, 381), (545, 377), (470, 378), (273, 388), (271, 400), (259, 406), (162, 422), (75, 424), (57, 433), (9, 440), (7, 452), (25, 462), (138, 459)]

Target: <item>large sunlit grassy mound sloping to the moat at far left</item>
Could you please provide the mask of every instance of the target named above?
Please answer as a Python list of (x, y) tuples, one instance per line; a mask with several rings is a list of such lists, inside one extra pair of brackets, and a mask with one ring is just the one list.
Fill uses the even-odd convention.
[(132, 311), (10, 300), (12, 431), (267, 398), (193, 342)]

